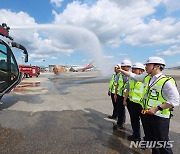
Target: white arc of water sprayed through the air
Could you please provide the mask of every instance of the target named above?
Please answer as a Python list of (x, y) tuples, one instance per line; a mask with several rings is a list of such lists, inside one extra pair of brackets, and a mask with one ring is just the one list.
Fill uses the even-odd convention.
[(104, 68), (108, 68), (109, 65), (104, 58), (104, 54), (101, 49), (101, 44), (98, 37), (91, 31), (76, 26), (70, 25), (54, 25), (54, 24), (39, 24), (32, 26), (14, 26), (12, 30), (37, 30), (50, 32), (52, 37), (65, 41), (66, 44), (70, 44), (75, 49), (81, 49), (88, 51), (92, 54), (96, 65), (100, 69), (101, 73), (106, 75), (107, 71)]

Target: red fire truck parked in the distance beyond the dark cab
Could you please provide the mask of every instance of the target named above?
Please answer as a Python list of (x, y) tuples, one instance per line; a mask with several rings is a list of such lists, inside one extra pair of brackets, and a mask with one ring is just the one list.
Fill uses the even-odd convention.
[(19, 65), (19, 71), (24, 74), (24, 77), (31, 78), (40, 75), (40, 68), (38, 66)]

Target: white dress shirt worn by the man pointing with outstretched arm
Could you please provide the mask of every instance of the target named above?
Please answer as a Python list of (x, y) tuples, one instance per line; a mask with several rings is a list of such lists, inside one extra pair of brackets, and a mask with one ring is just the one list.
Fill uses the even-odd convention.
[[(145, 76), (147, 76), (147, 73), (144, 73), (142, 75), (137, 75), (132, 72), (130, 73), (131, 78), (134, 78), (135, 80), (141, 82), (144, 81)], [(165, 75), (163, 75), (162, 73), (154, 75), (153, 77), (151, 77), (149, 85), (155, 84), (159, 79), (161, 79), (164, 76)], [(167, 100), (167, 102), (165, 103), (168, 103), (172, 106), (179, 106), (180, 104), (179, 92), (176, 85), (171, 80), (165, 82), (164, 86), (162, 87), (162, 95)]]

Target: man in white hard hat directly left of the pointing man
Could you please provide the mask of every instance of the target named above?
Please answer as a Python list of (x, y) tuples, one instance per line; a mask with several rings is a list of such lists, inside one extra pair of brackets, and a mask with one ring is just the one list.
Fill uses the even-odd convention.
[[(142, 63), (135, 63), (132, 65), (132, 72), (135, 74), (142, 74), (145, 71), (145, 66)], [(140, 141), (140, 113), (142, 108), (141, 99), (143, 97), (144, 84), (132, 78), (128, 81), (127, 90), (124, 96), (123, 105), (127, 106), (129, 111), (131, 127), (133, 134), (128, 136), (128, 140)], [(129, 97), (129, 101), (127, 101)]]

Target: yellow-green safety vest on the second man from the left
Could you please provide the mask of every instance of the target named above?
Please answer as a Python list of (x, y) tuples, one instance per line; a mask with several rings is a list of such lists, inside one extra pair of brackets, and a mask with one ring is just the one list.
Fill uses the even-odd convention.
[(118, 80), (118, 89), (117, 89), (117, 94), (120, 96), (124, 96), (126, 92), (126, 85), (127, 82), (124, 83), (123, 81), (123, 75), (119, 75), (119, 80)]

